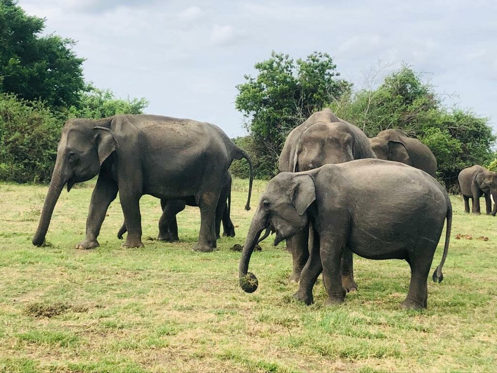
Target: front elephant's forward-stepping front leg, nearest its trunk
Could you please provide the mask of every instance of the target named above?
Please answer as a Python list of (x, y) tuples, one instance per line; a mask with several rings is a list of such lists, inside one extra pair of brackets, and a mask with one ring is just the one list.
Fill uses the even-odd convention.
[(315, 231), (313, 246), (311, 253), (309, 254), (309, 260), (300, 275), (299, 290), (293, 296), (307, 305), (314, 303), (312, 289), (322, 271), (323, 266), (321, 264), (320, 256), (320, 237)]

